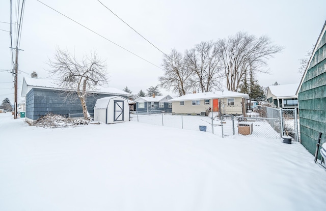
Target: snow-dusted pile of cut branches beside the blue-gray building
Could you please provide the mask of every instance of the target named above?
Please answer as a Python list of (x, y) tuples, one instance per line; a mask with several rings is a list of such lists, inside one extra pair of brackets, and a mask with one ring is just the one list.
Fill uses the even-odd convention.
[(35, 126), (43, 128), (66, 128), (75, 125), (88, 125), (89, 121), (85, 119), (71, 119), (65, 118), (61, 115), (48, 113), (45, 116), (37, 119)]

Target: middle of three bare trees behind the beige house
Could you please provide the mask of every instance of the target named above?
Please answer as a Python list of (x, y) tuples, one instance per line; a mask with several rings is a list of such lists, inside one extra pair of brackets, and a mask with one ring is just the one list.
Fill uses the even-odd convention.
[(202, 92), (210, 92), (221, 87), (220, 49), (216, 42), (201, 42), (186, 51), (186, 65), (191, 72), (191, 84)]

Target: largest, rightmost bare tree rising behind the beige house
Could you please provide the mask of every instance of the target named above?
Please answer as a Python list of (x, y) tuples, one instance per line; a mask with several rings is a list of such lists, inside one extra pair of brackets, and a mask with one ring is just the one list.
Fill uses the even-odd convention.
[[(227, 88), (233, 92), (237, 91), (242, 77), (251, 65), (267, 66), (267, 60), (283, 50), (282, 46), (274, 45), (266, 36), (256, 38), (243, 32), (238, 32), (228, 40), (219, 40), (218, 46), (221, 49), (220, 57), (227, 79)], [(263, 68), (254, 71), (268, 72)]]

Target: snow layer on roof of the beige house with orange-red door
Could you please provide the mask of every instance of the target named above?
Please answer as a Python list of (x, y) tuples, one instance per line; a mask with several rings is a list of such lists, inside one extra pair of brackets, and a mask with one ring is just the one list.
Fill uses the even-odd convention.
[(243, 97), (245, 99), (249, 99), (248, 94), (231, 92), (231, 91), (216, 91), (216, 92), (208, 92), (208, 93), (193, 93), (184, 95), (178, 98), (174, 98), (169, 100), (173, 101), (186, 101), (186, 100), (204, 100), (204, 99), (217, 99), (217, 98), (235, 98), (235, 97)]

